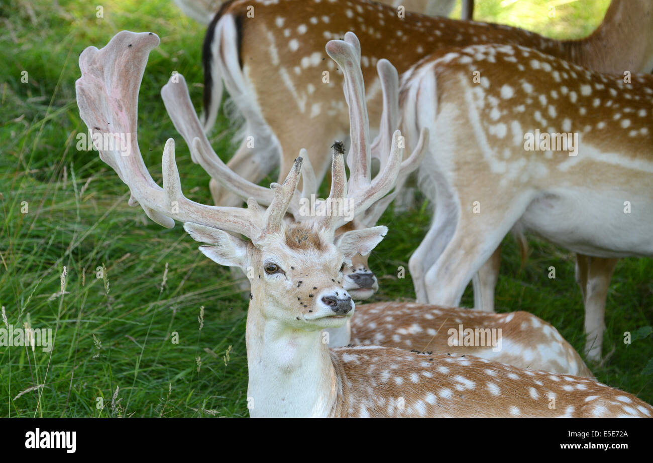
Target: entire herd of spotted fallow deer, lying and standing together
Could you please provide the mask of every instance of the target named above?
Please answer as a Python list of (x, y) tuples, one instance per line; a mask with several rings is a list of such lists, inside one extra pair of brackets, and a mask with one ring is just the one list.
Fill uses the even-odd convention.
[[(130, 134), (129, 153), (97, 146), (129, 204), (183, 222), (203, 254), (247, 274), (251, 416), (653, 417), (594, 380), (546, 321), (493, 313), (503, 237), (537, 233), (577, 253), (586, 355), (599, 359), (616, 260), (653, 255), (653, 0), (613, 0), (597, 31), (565, 42), (390, 0), (236, 0), (215, 14), (206, 5), (220, 2), (176, 1), (212, 17), (202, 120), (183, 76), (161, 95), (215, 205), (183, 196), (172, 139), (163, 188), (138, 150), (156, 35), (84, 50), (77, 101), (93, 132)], [(206, 136), (223, 85), (245, 119), (227, 164)], [(347, 130), (345, 157), (334, 140)], [(569, 138), (527, 149), (540, 132)], [(329, 163), (330, 194), (307, 214)], [(279, 183), (257, 185), (276, 166)], [(409, 261), (417, 302), (354, 310), (378, 288), (366, 258), (387, 232), (376, 222), (415, 172), (434, 204)], [(479, 310), (455, 308), (470, 280)]]

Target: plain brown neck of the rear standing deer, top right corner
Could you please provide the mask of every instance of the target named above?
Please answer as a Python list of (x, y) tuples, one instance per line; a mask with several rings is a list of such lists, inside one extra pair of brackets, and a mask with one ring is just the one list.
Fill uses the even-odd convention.
[[(568, 40), (567, 59), (611, 74), (653, 70), (653, 7), (640, 0), (613, 0), (605, 19), (587, 38)], [(645, 40), (641, 40), (644, 38)]]

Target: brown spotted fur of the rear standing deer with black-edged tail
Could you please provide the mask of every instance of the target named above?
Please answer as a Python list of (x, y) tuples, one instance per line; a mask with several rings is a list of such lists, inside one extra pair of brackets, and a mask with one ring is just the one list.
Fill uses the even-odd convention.
[[(247, 7), (251, 5), (255, 8), (255, 17), (247, 18)], [(240, 18), (242, 23), (241, 57), (244, 74), (251, 81), (264, 119), (278, 137), (284, 153), (279, 179), (285, 177), (293, 157), (301, 148), (308, 149), (317, 178), (321, 179), (328, 166), (328, 146), (349, 129), (346, 106), (336, 113), (327, 113), (327, 107), (330, 107), (332, 102), (342, 100), (342, 74), (332, 67), (333, 63), (325, 53), (327, 38), (342, 38), (347, 31), (357, 35), (362, 56), (370, 60), (369, 65), (362, 66), (364, 82), (368, 89), (377, 81), (374, 66), (377, 59), (389, 59), (402, 73), (422, 57), (438, 50), (492, 42), (535, 48), (602, 72), (621, 73), (625, 69), (638, 72), (643, 70), (639, 67), (648, 59), (647, 53), (650, 53), (650, 50), (641, 50), (641, 47), (633, 50), (631, 44), (639, 42), (639, 37), (635, 37), (636, 31), (652, 35), (650, 29), (653, 24), (650, 23), (653, 19), (650, 9), (651, 3), (646, 0), (637, 3), (632, 0), (616, 0), (609, 10), (607, 23), (599, 29), (599, 33), (585, 40), (568, 42), (551, 40), (504, 25), (432, 18), (409, 12), (406, 12), (405, 18), (398, 18), (396, 8), (368, 1), (314, 3), (312, 0), (281, 0), (264, 5), (251, 0), (239, 0), (225, 8), (224, 14), (232, 14)], [(345, 14), (347, 10), (353, 14)], [(614, 33), (616, 38), (613, 38), (613, 29), (619, 27), (620, 18), (626, 10), (629, 11), (629, 17), (641, 14), (639, 22), (632, 23), (639, 29), (621, 26), (618, 33)], [(323, 22), (323, 16), (330, 18), (328, 23)], [(319, 20), (315, 25), (310, 22), (313, 17)], [(283, 18), (281, 27), (275, 24), (276, 18)], [(308, 31), (299, 34), (297, 29), (300, 25), (306, 25)], [(289, 36), (283, 34), (286, 29), (290, 32)], [(330, 33), (328, 37), (325, 31)], [(624, 38), (624, 33), (630, 33), (630, 38)], [(278, 63), (271, 62), (268, 35), (274, 37)], [(266, 40), (266, 46), (261, 46), (262, 38)], [(619, 38), (622, 40), (616, 40)], [(288, 47), (291, 39), (299, 42), (298, 48), (292, 52)], [(648, 38), (646, 40), (650, 41)], [(605, 46), (607, 43), (610, 45)], [(616, 46), (618, 44), (627, 44), (628, 48), (623, 50)], [(580, 49), (592, 52), (587, 52), (590, 54), (588, 57), (579, 52)], [(302, 57), (309, 57), (312, 53), (321, 54), (325, 60), (317, 67), (301, 67)], [(635, 56), (630, 56), (629, 53), (634, 53)], [(295, 96), (279, 81), (281, 67), (288, 72), (298, 95), (306, 98), (303, 114), (295, 102)], [(300, 68), (300, 74), (294, 72), (295, 67)], [(321, 82), (323, 70), (330, 71), (329, 83)], [(272, 82), (275, 83), (274, 91), (269, 90)], [(307, 83), (313, 83), (315, 87), (315, 91), (310, 95), (306, 92)], [(368, 99), (370, 125), (374, 127), (381, 116), (380, 93)], [(321, 113), (309, 117), (311, 105), (317, 102), (323, 105)], [(302, 123), (298, 124), (298, 120), (302, 120)]]

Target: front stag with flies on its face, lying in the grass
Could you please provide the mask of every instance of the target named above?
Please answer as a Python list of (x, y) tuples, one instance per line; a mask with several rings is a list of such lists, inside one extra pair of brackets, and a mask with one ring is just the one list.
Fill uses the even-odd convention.
[[(200, 252), (216, 263), (253, 267), (246, 323), (251, 417), (653, 416), (653, 407), (639, 398), (589, 378), (471, 355), (424, 355), (381, 346), (329, 349), (321, 330), (342, 326), (355, 310), (337, 283), (342, 269), (351, 256), (370, 252), (387, 228), (352, 230), (336, 240), (343, 217), (326, 215), (306, 224), (284, 220), (302, 157), (283, 183), (270, 186), (274, 199), (267, 208), (253, 198), (247, 207), (203, 205), (183, 196), (170, 138), (159, 187), (140, 155), (136, 127), (138, 89), (148, 55), (158, 44), (153, 33), (121, 31), (101, 50), (86, 48), (76, 82), (80, 115), (95, 133), (125, 137), (127, 150), (121, 143), (97, 148), (129, 187), (130, 205), (140, 205), (168, 228), (175, 220), (183, 222), (195, 241), (207, 243)], [(128, 140), (126, 134), (131, 134)], [(392, 135), (388, 175), (398, 174), (403, 158), (400, 136), (399, 130)], [(334, 145), (332, 200), (346, 194), (343, 154)], [(383, 187), (374, 183), (369, 190), (356, 208), (373, 203)]]

